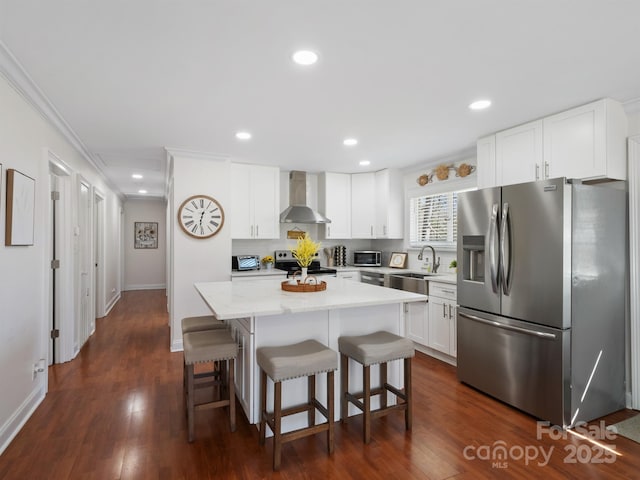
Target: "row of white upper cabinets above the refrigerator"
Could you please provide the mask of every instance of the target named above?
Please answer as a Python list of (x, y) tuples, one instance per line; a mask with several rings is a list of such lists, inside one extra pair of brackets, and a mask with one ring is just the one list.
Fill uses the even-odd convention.
[(568, 177), (625, 180), (627, 117), (598, 100), (483, 137), (477, 142), (478, 186)]

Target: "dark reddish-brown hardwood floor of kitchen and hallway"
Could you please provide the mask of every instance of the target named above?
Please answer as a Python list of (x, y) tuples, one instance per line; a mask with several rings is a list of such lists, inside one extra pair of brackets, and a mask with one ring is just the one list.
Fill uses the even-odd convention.
[[(390, 415), (374, 422), (363, 445), (356, 417), (336, 425), (332, 456), (323, 435), (301, 439), (284, 446), (273, 473), (271, 441), (258, 445), (238, 404), (235, 433), (226, 409), (199, 412), (189, 444), (182, 353), (169, 352), (165, 305), (164, 291), (125, 292), (78, 357), (49, 369), (49, 393), (0, 456), (0, 479), (640, 478), (640, 444), (602, 440), (614, 455), (573, 435), (537, 435), (534, 418), (460, 384), (455, 368), (422, 354), (411, 432), (401, 414)], [(598, 422), (591, 425), (597, 436)], [(500, 447), (504, 460), (483, 459)]]

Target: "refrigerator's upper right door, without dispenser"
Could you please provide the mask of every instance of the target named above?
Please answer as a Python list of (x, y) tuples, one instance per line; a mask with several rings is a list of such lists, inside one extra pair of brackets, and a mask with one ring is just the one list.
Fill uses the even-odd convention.
[(569, 326), (570, 189), (564, 178), (503, 187), (502, 315)]

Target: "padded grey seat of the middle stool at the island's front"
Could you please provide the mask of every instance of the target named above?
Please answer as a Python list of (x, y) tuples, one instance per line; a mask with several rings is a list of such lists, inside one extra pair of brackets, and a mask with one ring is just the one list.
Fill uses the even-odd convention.
[(282, 347), (262, 347), (257, 350), (260, 368), (274, 382), (317, 375), (338, 368), (336, 352), (316, 340), (306, 340)]

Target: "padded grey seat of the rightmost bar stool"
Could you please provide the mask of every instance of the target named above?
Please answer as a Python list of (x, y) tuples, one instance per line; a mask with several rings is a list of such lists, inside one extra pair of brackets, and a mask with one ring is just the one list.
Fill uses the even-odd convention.
[(338, 350), (365, 366), (415, 355), (415, 347), (411, 340), (385, 331), (340, 337)]

